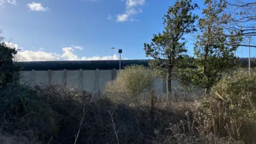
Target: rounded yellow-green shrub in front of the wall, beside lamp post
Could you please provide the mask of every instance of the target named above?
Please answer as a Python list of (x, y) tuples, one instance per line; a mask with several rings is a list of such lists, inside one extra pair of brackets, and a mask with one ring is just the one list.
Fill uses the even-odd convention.
[(145, 66), (132, 65), (126, 66), (113, 82), (106, 84), (107, 93), (127, 93), (135, 98), (149, 88), (152, 83), (151, 71)]

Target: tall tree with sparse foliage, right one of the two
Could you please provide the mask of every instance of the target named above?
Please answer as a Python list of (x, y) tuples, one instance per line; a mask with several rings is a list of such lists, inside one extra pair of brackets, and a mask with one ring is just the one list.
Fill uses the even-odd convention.
[(188, 79), (209, 92), (213, 84), (219, 81), (221, 73), (235, 64), (234, 50), (237, 47), (231, 43), (237, 43), (239, 39), (228, 38), (223, 35), (220, 25), (225, 24), (221, 20), (226, 3), (222, 0), (206, 0), (206, 9), (203, 9), (203, 18), (199, 19), (201, 34), (197, 36), (194, 46), (194, 75)]

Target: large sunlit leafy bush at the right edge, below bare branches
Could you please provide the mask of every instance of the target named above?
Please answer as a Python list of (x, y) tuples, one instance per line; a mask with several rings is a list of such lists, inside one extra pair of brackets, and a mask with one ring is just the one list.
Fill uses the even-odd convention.
[(238, 70), (212, 87), (211, 94), (202, 101), (205, 133), (255, 143), (256, 132), (256, 73)]

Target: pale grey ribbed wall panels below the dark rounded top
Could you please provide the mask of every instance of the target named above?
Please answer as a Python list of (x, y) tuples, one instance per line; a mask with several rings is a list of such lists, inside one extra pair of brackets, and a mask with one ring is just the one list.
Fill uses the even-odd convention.
[[(89, 92), (103, 92), (105, 84), (116, 77), (118, 70), (31, 70), (21, 71), (21, 83), (28, 85), (58, 84), (75, 87), (78, 90)], [(178, 86), (177, 82), (172, 85)], [(153, 78), (151, 89), (154, 91), (166, 92), (166, 82), (162, 79)]]

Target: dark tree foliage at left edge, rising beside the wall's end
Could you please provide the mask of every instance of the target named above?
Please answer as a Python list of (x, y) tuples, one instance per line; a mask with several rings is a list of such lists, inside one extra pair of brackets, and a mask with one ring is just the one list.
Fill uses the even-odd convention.
[(13, 63), (13, 52), (15, 49), (0, 43), (0, 89), (18, 81), (19, 70)]

